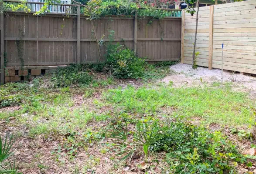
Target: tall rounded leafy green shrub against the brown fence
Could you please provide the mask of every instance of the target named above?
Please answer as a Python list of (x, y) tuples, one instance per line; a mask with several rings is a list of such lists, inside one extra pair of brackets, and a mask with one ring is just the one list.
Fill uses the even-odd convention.
[(145, 71), (145, 61), (134, 55), (134, 52), (128, 48), (110, 53), (107, 56), (107, 64), (117, 78), (141, 77)]

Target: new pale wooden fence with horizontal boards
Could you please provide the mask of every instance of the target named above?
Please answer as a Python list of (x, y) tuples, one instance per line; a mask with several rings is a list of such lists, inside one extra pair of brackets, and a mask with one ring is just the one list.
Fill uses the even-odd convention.
[[(192, 64), (196, 14), (182, 12), (181, 62)], [(256, 74), (256, 0), (200, 7), (197, 64)]]

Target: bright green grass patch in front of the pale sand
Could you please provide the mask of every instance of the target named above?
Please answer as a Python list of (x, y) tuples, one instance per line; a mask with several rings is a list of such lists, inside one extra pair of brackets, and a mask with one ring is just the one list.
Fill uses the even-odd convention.
[(249, 100), (245, 93), (232, 91), (229, 87), (127, 87), (124, 90), (109, 90), (105, 93), (105, 100), (110, 104), (116, 104), (120, 110), (132, 113), (173, 110), (173, 115), (201, 117), (206, 123), (237, 126), (253, 123), (255, 107), (253, 100)]

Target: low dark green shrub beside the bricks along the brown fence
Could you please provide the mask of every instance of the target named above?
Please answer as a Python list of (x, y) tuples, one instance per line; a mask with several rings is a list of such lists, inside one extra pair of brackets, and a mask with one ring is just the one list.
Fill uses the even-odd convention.
[(92, 76), (85, 71), (83, 65), (71, 65), (65, 68), (58, 68), (52, 80), (55, 86), (68, 87), (72, 84), (90, 84)]

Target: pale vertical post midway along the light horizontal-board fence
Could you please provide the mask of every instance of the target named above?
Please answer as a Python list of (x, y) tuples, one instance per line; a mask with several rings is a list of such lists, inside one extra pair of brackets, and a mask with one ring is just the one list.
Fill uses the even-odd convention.
[(210, 6), (210, 23), (209, 23), (209, 59), (208, 59), (208, 69), (212, 70), (212, 31), (213, 31), (213, 8)]

